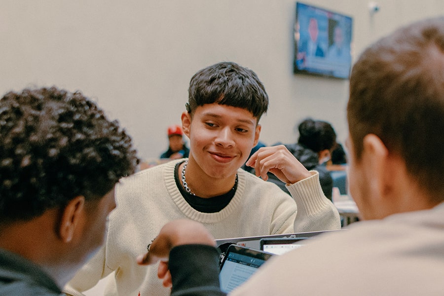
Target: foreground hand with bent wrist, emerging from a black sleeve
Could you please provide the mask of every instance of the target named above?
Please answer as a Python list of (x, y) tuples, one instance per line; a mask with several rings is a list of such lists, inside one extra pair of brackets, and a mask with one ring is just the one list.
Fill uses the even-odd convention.
[(157, 277), (163, 280), (164, 287), (171, 288), (172, 280), (168, 270), (170, 250), (176, 246), (188, 244), (216, 246), (214, 237), (199, 222), (186, 219), (174, 220), (160, 229), (159, 234), (150, 244), (148, 253), (140, 255), (137, 263), (148, 265), (160, 260)]

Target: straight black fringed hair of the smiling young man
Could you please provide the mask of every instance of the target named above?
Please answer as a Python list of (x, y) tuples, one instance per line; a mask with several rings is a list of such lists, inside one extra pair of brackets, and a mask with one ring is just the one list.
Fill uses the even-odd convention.
[(189, 112), (217, 103), (250, 111), (260, 119), (268, 109), (268, 95), (258, 75), (236, 63), (222, 62), (198, 71), (188, 88)]

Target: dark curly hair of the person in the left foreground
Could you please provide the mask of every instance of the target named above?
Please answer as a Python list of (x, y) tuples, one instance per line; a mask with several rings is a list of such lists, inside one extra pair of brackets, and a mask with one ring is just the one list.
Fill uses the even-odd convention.
[(80, 92), (9, 92), (0, 100), (0, 221), (29, 220), (75, 196), (98, 200), (138, 159), (131, 138)]

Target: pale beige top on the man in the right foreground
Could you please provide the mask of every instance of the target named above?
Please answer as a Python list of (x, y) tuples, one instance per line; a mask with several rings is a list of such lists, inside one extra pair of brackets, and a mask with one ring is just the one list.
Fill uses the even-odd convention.
[(443, 296), (443, 217), (444, 202), (320, 234), (268, 260), (229, 296)]

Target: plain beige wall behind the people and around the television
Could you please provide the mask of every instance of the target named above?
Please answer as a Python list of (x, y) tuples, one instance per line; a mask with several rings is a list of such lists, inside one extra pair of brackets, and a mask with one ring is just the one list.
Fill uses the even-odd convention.
[[(306, 116), (347, 135), (347, 80), (292, 72), (290, 0), (0, 0), (0, 93), (27, 85), (80, 89), (133, 136), (141, 157), (166, 148), (197, 70), (234, 61), (270, 96), (261, 140), (294, 142)], [(353, 17), (354, 59), (400, 25), (444, 13), (442, 0), (306, 0)]]

